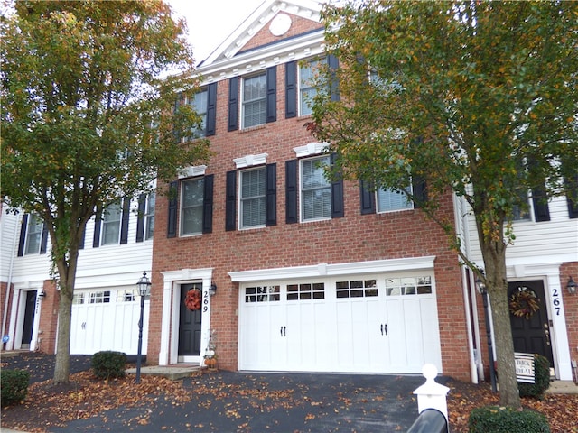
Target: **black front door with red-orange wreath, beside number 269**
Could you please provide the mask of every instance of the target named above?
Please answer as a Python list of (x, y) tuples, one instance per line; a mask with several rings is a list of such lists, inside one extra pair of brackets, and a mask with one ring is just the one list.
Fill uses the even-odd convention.
[(181, 286), (181, 315), (179, 319), (179, 356), (200, 355), (200, 319), (201, 309), (187, 308), (185, 299), (189, 290), (199, 290), (202, 294), (202, 284), (182, 284)]

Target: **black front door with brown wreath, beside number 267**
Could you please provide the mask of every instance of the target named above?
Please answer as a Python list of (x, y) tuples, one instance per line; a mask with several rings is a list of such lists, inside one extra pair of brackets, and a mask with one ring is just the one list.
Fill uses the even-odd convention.
[[(537, 309), (524, 301), (523, 297), (516, 297), (520, 292), (529, 293), (536, 299)], [(514, 296), (514, 299), (512, 298)], [(536, 298), (534, 298), (536, 296)], [(550, 325), (545, 308), (545, 292), (543, 281), (517, 281), (508, 283), (508, 300), (510, 304), (510, 323), (514, 338), (514, 350), (526, 354), (543, 355), (554, 368), (552, 345), (550, 344)], [(516, 303), (512, 303), (514, 300)], [(517, 314), (512, 312), (517, 311)]]

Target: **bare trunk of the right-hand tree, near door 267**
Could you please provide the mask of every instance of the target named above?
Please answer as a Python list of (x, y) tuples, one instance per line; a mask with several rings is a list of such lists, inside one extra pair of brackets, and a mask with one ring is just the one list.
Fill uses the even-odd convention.
[(514, 343), (508, 308), (506, 245), (501, 240), (481, 244), (496, 341), (499, 404), (519, 409), (521, 403), (517, 389)]

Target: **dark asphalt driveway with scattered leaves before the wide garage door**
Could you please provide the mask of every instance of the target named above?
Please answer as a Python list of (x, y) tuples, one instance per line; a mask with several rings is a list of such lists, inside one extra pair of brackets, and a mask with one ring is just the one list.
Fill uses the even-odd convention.
[[(50, 378), (47, 355), (40, 356)], [(29, 358), (31, 381), (41, 375), (32, 357), (21, 358), (8, 365), (3, 358), (4, 368), (25, 368)], [(89, 368), (87, 358), (73, 357), (72, 368)], [(190, 401), (161, 396), (153, 405), (107, 410), (51, 432), (403, 432), (417, 416), (413, 392), (423, 383), (422, 376), (219, 371), (182, 379)]]

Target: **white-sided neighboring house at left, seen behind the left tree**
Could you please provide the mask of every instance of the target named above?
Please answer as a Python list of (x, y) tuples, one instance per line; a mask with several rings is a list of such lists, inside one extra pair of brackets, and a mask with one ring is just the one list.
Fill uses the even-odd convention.
[[(154, 194), (108, 208), (89, 221), (72, 305), (70, 354), (137, 352), (140, 302), (136, 282), (153, 255)], [(0, 217), (2, 332), (5, 350), (53, 353), (58, 291), (51, 277), (50, 236), (33, 215)], [(144, 346), (148, 332), (144, 307)], [(6, 341), (7, 340), (7, 341)]]

